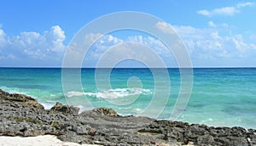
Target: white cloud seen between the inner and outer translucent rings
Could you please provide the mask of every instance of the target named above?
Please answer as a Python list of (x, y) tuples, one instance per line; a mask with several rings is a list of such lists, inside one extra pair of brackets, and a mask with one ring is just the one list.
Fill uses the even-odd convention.
[[(85, 38), (87, 39), (87, 41), (95, 42), (96, 38), (99, 38), (98, 36), (102, 35), (89, 34), (86, 35)], [(162, 42), (160, 42), (160, 40), (152, 36), (128, 36), (125, 39), (120, 39), (112, 35), (102, 36), (94, 43), (93, 46), (91, 46), (89, 52), (86, 53), (84, 57), (84, 65), (96, 66), (97, 61), (99, 61), (102, 58), (102, 56), (106, 55), (106, 53), (108, 53), (108, 51), (113, 48), (114, 50), (117, 50), (117, 54), (124, 53), (122, 55), (130, 55), (131, 58), (147, 58), (148, 62), (150, 62), (150, 60), (153, 60), (150, 57), (148, 57), (146, 53), (139, 53), (142, 50), (138, 50), (139, 47), (136, 45), (128, 49), (127, 45), (125, 44), (126, 42), (133, 42), (139, 46), (141, 45), (141, 48), (143, 46), (149, 48), (150, 50), (154, 51), (154, 53), (158, 54), (161, 59), (166, 60), (169, 66), (171, 66), (170, 64), (173, 65), (172, 53), (166, 48), (166, 46)], [(115, 46), (119, 46), (119, 50), (118, 48), (115, 48)], [(127, 50), (131, 50), (131, 53), (125, 54), (127, 53)], [(138, 56), (136, 53), (139, 53), (141, 56)], [(120, 55), (118, 55), (117, 57), (119, 56)], [(172, 59), (172, 61), (170, 61), (170, 59)], [(132, 67), (132, 65), (130, 67)]]

